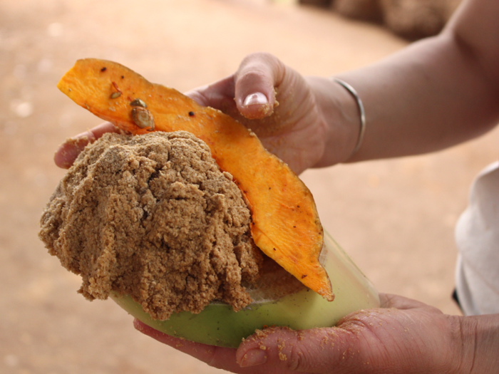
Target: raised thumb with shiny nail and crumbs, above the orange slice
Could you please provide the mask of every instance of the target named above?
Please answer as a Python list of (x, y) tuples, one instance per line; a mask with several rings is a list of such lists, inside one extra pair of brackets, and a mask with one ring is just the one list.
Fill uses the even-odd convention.
[(245, 118), (272, 115), (277, 105), (274, 87), (282, 82), (285, 70), (284, 64), (269, 53), (253, 53), (242, 61), (235, 73), (235, 101)]

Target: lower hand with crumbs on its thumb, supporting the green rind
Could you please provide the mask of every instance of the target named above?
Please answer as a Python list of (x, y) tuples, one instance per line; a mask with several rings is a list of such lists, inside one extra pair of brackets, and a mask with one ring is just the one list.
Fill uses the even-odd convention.
[[(358, 311), (333, 328), (267, 328), (239, 348), (220, 348), (135, 328), (215, 368), (233, 373), (470, 373), (461, 318), (401, 296), (381, 294), (379, 309)], [(473, 342), (466, 342), (473, 345)]]

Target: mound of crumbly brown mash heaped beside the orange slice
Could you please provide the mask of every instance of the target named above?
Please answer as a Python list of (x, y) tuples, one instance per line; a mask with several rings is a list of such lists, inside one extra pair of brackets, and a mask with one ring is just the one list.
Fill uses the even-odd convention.
[(185, 132), (106, 134), (88, 145), (41, 217), (40, 237), (81, 274), (89, 300), (129, 294), (156, 319), (235, 311), (252, 299), (262, 254), (244, 198), (210, 149)]

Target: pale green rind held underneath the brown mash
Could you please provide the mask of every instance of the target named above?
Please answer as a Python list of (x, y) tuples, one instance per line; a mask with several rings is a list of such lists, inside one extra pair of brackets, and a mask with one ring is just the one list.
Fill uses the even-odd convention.
[(130, 296), (111, 297), (125, 311), (148, 326), (190, 341), (236, 348), (243, 338), (264, 326), (287, 326), (295, 330), (334, 326), (347, 314), (379, 307), (379, 296), (371, 282), (326, 233), (321, 263), (335, 293), (334, 301), (303, 289), (276, 301), (252, 303), (235, 312), (224, 303), (211, 303), (201, 313), (175, 313), (158, 321), (145, 313)]

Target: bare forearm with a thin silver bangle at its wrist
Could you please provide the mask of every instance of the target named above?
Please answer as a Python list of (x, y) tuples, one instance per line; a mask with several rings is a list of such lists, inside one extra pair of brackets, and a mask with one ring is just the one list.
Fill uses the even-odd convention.
[[(473, 18), (485, 19), (484, 2), (473, 3), (478, 10), (474, 14), (468, 11), (470, 23)], [(499, 6), (493, 7), (489, 11), (499, 13)], [(483, 22), (497, 24), (488, 18)], [(379, 63), (339, 76), (354, 86), (366, 110), (364, 142), (349, 161), (441, 150), (477, 137), (499, 121), (499, 53), (490, 47), (497, 36), (480, 45), (474, 29), (461, 26), (465, 21), (469, 20), (458, 16), (440, 36), (413, 43)], [(497, 26), (489, 25), (486, 31), (499, 33)], [(484, 68), (491, 60), (495, 65)], [(331, 91), (337, 90), (333, 87), (336, 83), (329, 84)], [(327, 105), (328, 99), (319, 101)], [(341, 105), (340, 112), (356, 113), (349, 125), (358, 134), (360, 120), (354, 98), (346, 93)], [(338, 118), (334, 113), (328, 115), (332, 128)], [(324, 165), (331, 165), (327, 155), (319, 163)]]

